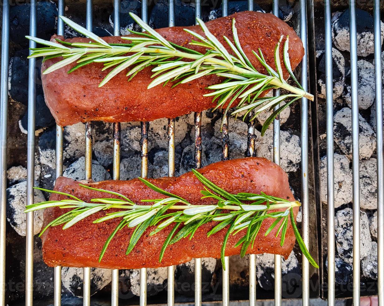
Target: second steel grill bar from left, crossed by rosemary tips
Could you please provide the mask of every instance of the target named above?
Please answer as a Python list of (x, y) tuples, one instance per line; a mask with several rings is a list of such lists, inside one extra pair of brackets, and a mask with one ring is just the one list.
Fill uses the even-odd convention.
[[(30, 36), (36, 36), (37, 1), (30, 4)], [(30, 41), (30, 48), (36, 43)], [(28, 65), (28, 136), (27, 136), (27, 186), (26, 204), (34, 203), (35, 186), (35, 100), (36, 100), (36, 59), (29, 59)], [(26, 254), (25, 254), (25, 305), (33, 305), (33, 212), (26, 214)]]

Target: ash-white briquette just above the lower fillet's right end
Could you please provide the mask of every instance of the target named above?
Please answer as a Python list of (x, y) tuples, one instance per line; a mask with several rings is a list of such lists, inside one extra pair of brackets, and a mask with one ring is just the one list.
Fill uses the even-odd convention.
[[(257, 142), (256, 155), (273, 160), (273, 130), (266, 130)], [(285, 172), (295, 172), (301, 161), (300, 138), (288, 131), (280, 131), (280, 166)]]

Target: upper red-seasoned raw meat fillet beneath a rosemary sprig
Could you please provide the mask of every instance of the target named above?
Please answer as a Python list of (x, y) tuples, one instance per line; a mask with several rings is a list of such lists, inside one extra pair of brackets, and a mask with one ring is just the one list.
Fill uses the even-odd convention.
[[(236, 18), (238, 37), (243, 50), (254, 67), (265, 73), (264, 67), (252, 54), (252, 50), (260, 48), (266, 62), (273, 68), (274, 49), (281, 35), (289, 35), (290, 62), (292, 69), (299, 64), (304, 55), (303, 43), (295, 31), (279, 18), (259, 12), (240, 12), (228, 17), (218, 18), (205, 23), (218, 40), (233, 53), (223, 40), (223, 35), (232, 40), (232, 18)], [(199, 26), (187, 27), (201, 35)], [(170, 42), (205, 52), (202, 47), (188, 45), (192, 35), (186, 33), (184, 27), (170, 27), (156, 30)], [(54, 38), (64, 38), (54, 35)], [(109, 43), (127, 43), (120, 37), (103, 37)], [(87, 38), (71, 38), (67, 42), (88, 42)], [(283, 42), (285, 41), (285, 38)], [(281, 47), (282, 50), (282, 47)], [(281, 52), (281, 63), (283, 53)], [(43, 63), (41, 69), (58, 62), (60, 58), (50, 59)], [(128, 82), (127, 71), (122, 71), (103, 87), (98, 85), (109, 70), (101, 71), (103, 64), (92, 63), (67, 74), (75, 63), (58, 69), (50, 74), (42, 75), (45, 101), (51, 110), (56, 123), (61, 126), (103, 120), (108, 122), (151, 121), (159, 118), (175, 118), (190, 112), (200, 112), (215, 106), (212, 97), (203, 97), (211, 92), (205, 87), (220, 83), (222, 78), (207, 75), (186, 84), (171, 88), (171, 82), (163, 87), (158, 85), (147, 89), (151, 82), (151, 67), (137, 74)], [(283, 67), (285, 78), (288, 72)], [(233, 105), (235, 106), (235, 105)]]

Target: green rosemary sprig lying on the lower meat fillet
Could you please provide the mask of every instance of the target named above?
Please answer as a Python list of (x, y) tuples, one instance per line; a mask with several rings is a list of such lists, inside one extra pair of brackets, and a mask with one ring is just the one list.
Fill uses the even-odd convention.
[[(46, 192), (58, 193), (67, 196), (68, 199), (60, 201), (45, 201), (27, 205), (25, 212), (36, 211), (38, 209), (45, 209), (48, 207), (71, 209), (51, 221), (41, 231), (41, 236), (50, 226), (63, 225), (63, 229), (67, 229), (96, 212), (102, 210), (108, 211), (111, 208), (115, 209), (114, 212), (106, 212), (105, 216), (99, 217), (93, 221), (93, 223), (101, 223), (111, 219), (120, 220), (116, 229), (114, 229), (111, 235), (106, 239), (99, 261), (103, 259), (104, 253), (106, 252), (106, 249), (108, 248), (108, 245), (113, 237), (124, 227), (134, 228), (129, 240), (126, 255), (132, 252), (140, 237), (149, 227), (152, 227), (152, 231), (149, 234), (150, 236), (157, 234), (166, 227), (172, 227), (172, 230), (167, 236), (161, 249), (159, 257), (159, 262), (161, 262), (167, 246), (187, 237), (192, 239), (194, 233), (200, 226), (211, 221), (216, 221), (218, 223), (215, 224), (215, 226), (212, 227), (212, 229), (207, 233), (207, 237), (220, 231), (226, 231), (221, 250), (221, 260), (224, 269), (225, 247), (230, 235), (236, 235), (239, 232), (242, 232), (243, 229), (247, 230), (245, 234), (243, 232), (243, 236), (240, 237), (236, 244), (236, 246), (242, 246), (240, 255), (245, 256), (249, 246), (253, 248), (253, 243), (255, 242), (257, 234), (265, 219), (275, 219), (275, 221), (272, 222), (271, 226), (265, 232), (265, 236), (270, 234), (273, 229), (277, 228), (276, 237), (279, 235), (281, 236), (281, 246), (284, 244), (288, 220), (290, 220), (301, 251), (308, 258), (309, 262), (315, 268), (318, 268), (318, 264), (308, 252), (308, 249), (306, 248), (295, 224), (293, 207), (300, 206), (298, 201), (288, 201), (286, 199), (268, 196), (264, 193), (230, 194), (221, 187), (215, 185), (213, 182), (209, 181), (199, 172), (194, 170), (194, 174), (205, 186), (205, 189), (201, 191), (202, 199), (212, 198), (216, 201), (216, 204), (191, 204), (182, 197), (164, 191), (151, 182), (139, 178), (147, 187), (167, 197), (163, 199), (142, 200), (142, 202), (151, 202), (153, 203), (152, 205), (137, 205), (118, 192), (93, 188), (80, 184), (79, 186), (85, 189), (105, 192), (118, 197), (96, 198), (91, 199), (89, 202), (84, 202), (81, 201), (81, 199), (65, 192), (51, 191), (35, 187), (36, 189)], [(284, 210), (281, 211), (281, 209)]]

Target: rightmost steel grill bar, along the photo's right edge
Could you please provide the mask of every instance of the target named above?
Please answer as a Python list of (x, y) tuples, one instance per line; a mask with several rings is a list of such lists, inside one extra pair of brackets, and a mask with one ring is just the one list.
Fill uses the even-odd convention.
[(377, 295), (379, 296), (379, 306), (384, 306), (384, 144), (380, 1), (375, 0), (373, 5), (377, 158)]

